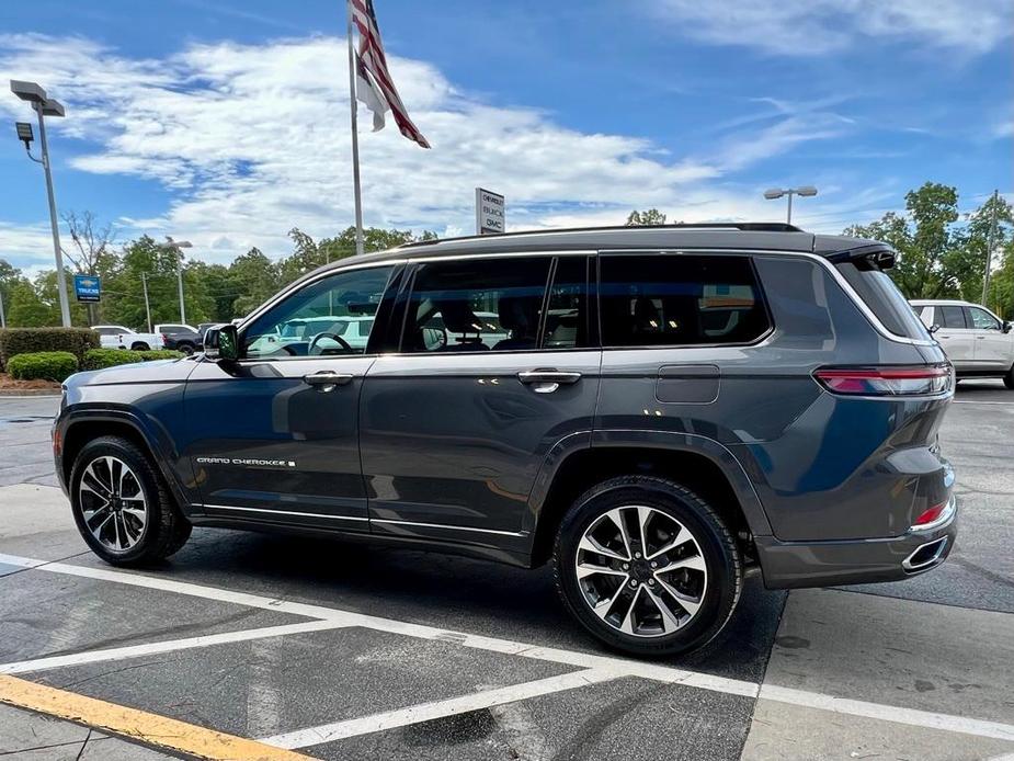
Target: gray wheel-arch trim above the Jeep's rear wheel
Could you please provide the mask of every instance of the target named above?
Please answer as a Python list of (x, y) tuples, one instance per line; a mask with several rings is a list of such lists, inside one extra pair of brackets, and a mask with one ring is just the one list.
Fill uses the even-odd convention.
[(549, 487), (561, 463), (573, 452), (588, 447), (643, 447), (665, 450), (669, 452), (691, 452), (707, 457), (728, 479), (742, 506), (747, 523), (754, 536), (772, 534), (767, 514), (761, 504), (753, 484), (743, 466), (728, 447), (698, 433), (679, 433), (675, 431), (651, 431), (638, 429), (608, 429), (592, 432), (572, 433), (557, 442), (547, 453), (539, 468), (538, 476), (528, 497), (528, 512), (524, 529), (535, 531), (535, 524), (543, 504), (549, 493)]

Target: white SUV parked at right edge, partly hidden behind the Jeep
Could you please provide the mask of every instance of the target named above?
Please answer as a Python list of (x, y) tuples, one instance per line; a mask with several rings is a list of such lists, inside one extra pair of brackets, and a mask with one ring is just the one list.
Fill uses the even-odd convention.
[(912, 308), (939, 341), (958, 377), (1002, 377), (1014, 388), (1014, 332), (978, 304), (913, 300)]

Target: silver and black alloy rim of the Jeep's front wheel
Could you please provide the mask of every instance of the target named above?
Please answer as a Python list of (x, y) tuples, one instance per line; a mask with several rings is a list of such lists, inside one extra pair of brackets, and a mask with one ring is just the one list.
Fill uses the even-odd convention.
[(137, 474), (118, 457), (91, 461), (81, 475), (78, 499), (84, 525), (106, 549), (133, 548), (148, 524), (148, 501)]

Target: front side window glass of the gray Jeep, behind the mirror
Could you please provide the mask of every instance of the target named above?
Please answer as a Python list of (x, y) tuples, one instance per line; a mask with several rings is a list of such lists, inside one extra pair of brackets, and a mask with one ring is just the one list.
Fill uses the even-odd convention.
[(297, 291), (243, 331), (246, 359), (364, 354), (391, 266), (352, 270)]

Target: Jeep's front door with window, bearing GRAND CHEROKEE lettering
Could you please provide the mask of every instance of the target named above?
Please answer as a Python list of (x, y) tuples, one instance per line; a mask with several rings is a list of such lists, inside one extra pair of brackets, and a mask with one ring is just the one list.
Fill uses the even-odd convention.
[(391, 273), (311, 281), (243, 327), (238, 362), (198, 363), (184, 455), (207, 515), (368, 531), (357, 425), (375, 356), (342, 334), (369, 321)]

